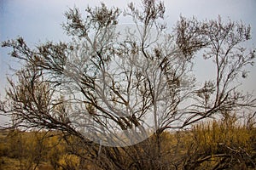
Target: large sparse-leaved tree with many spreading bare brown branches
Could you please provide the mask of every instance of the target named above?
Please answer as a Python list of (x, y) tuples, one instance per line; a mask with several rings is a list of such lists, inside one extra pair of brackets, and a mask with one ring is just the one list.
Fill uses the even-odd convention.
[[(13, 126), (72, 135), (88, 150), (76, 154), (102, 168), (160, 169), (166, 168), (160, 161), (166, 130), (255, 106), (253, 95), (237, 89), (255, 56), (242, 46), (251, 38), (250, 26), (180, 17), (170, 31), (164, 4), (154, 0), (143, 0), (141, 8), (129, 3), (124, 12), (102, 3), (85, 14), (78, 8), (65, 14), (71, 42), (29, 48), (19, 37), (2, 43), (22, 64), (1, 103)], [(119, 14), (134, 24), (120, 31)], [(196, 57), (212, 60), (215, 69), (202, 84), (193, 74)], [(152, 134), (148, 154), (137, 144)]]

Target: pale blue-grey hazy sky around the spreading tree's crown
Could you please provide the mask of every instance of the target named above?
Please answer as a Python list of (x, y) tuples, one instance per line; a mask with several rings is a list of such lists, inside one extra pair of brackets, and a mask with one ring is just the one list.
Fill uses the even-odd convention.
[[(140, 1), (132, 1), (140, 5)], [(28, 45), (33, 47), (45, 41), (67, 41), (61, 28), (61, 23), (66, 21), (65, 11), (73, 7), (83, 11), (88, 5), (94, 7), (101, 2), (108, 7), (123, 9), (131, 0), (0, 0), (0, 42), (24, 37)], [(180, 15), (188, 18), (195, 16), (198, 20), (217, 19), (220, 15), (224, 20), (241, 20), (252, 26), (253, 39), (248, 43), (248, 48), (256, 48), (255, 0), (164, 0), (164, 3), (166, 23), (170, 29), (177, 23)], [(125, 20), (120, 19), (120, 23), (122, 22), (125, 23)], [(12, 73), (9, 66), (14, 65), (8, 55), (10, 50), (0, 48), (0, 98), (4, 96), (6, 75)], [(199, 60), (196, 65), (197, 76), (203, 79), (211, 74), (207, 64), (201, 65)], [(248, 67), (248, 70), (251, 72), (242, 88), (244, 91), (256, 91), (256, 66)]]

